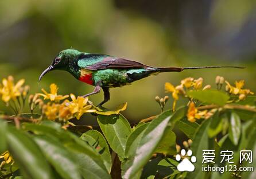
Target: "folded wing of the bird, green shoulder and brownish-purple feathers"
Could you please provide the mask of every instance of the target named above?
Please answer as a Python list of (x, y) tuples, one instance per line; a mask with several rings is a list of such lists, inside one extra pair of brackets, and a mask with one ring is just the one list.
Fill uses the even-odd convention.
[(98, 69), (131, 69), (131, 68), (150, 68), (137, 61), (126, 60), (118, 57), (97, 54), (80, 55), (77, 65), (80, 68), (96, 71)]

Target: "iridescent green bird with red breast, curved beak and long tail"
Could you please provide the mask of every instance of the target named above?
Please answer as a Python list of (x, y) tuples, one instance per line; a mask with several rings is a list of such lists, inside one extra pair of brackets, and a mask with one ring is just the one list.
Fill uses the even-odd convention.
[(122, 87), (145, 77), (162, 72), (182, 72), (185, 69), (202, 68), (243, 68), (235, 66), (208, 67), (151, 67), (137, 61), (127, 60), (110, 55), (79, 52), (76, 49), (65, 49), (57, 54), (52, 64), (40, 75), (39, 81), (49, 71), (55, 69), (67, 71), (76, 79), (94, 85), (94, 91), (83, 95), (84, 98), (98, 94), (103, 89), (104, 99), (98, 106), (110, 100), (109, 88)]

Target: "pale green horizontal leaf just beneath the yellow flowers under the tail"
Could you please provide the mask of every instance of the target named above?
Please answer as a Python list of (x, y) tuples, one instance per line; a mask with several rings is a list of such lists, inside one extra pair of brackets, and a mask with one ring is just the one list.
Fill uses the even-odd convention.
[(224, 106), (230, 98), (224, 92), (216, 89), (189, 91), (188, 96), (200, 100), (200, 102), (217, 104), (218, 106)]

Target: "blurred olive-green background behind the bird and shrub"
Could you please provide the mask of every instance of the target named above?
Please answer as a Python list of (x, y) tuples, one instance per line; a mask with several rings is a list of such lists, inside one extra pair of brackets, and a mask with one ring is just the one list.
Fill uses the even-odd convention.
[[(25, 78), (31, 92), (56, 83), (61, 94), (87, 94), (92, 86), (63, 71), (48, 73), (38, 84), (40, 73), (67, 48), (156, 67), (247, 67), (162, 73), (111, 89), (105, 107), (128, 102), (124, 115), (130, 121), (160, 112), (154, 97), (166, 95), (166, 81), (176, 85), (185, 77), (203, 77), (204, 84), (214, 86), (215, 76), (222, 75), (231, 83), (245, 79), (246, 87), (256, 92), (255, 7), (253, 0), (1, 0), (0, 77)], [(98, 104), (103, 94), (90, 99)], [(171, 108), (170, 102), (166, 107)], [(86, 123), (94, 120), (85, 118)]]

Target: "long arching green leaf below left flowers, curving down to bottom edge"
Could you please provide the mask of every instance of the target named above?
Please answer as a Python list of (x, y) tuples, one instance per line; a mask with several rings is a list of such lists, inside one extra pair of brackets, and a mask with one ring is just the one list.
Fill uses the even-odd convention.
[(55, 138), (71, 151), (84, 178), (110, 178), (103, 159), (90, 145), (53, 122), (24, 125), (26, 130)]

